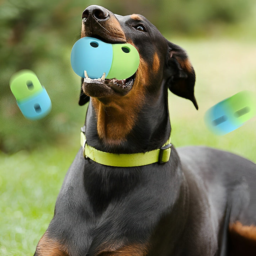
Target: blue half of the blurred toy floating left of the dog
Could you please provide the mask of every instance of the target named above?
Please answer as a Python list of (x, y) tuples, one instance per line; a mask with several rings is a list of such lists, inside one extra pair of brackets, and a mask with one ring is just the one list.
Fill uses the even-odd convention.
[(52, 103), (45, 88), (33, 97), (17, 102), (17, 105), (22, 114), (32, 120), (47, 116), (52, 109)]

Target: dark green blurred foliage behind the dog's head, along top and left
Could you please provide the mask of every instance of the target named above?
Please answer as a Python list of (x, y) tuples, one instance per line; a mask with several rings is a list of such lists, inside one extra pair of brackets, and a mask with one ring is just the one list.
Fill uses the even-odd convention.
[[(82, 11), (91, 4), (142, 14), (170, 40), (232, 33), (239, 26), (242, 31), (256, 6), (255, 0), (0, 0), (1, 151), (60, 143), (83, 124), (80, 78), (71, 69), (70, 52), (80, 38)], [(22, 116), (9, 87), (11, 75), (25, 68), (37, 74), (52, 100), (52, 112), (38, 121)]]

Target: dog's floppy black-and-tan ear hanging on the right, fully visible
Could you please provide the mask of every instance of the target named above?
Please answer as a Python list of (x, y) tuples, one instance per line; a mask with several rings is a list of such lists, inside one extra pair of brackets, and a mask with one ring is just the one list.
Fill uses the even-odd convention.
[(168, 44), (167, 85), (172, 93), (191, 100), (196, 109), (198, 109), (196, 98), (194, 97), (196, 75), (193, 66), (184, 49), (171, 42), (168, 42)]

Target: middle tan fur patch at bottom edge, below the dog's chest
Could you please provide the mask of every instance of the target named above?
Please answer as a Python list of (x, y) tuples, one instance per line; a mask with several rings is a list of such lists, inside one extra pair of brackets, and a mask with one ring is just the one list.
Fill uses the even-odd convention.
[(145, 244), (131, 244), (117, 250), (104, 250), (97, 256), (145, 256), (148, 254), (148, 246)]

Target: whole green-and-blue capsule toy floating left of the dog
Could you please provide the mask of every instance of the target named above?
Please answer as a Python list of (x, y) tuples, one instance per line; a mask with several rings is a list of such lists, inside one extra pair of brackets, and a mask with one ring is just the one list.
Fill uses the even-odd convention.
[(22, 114), (32, 120), (45, 117), (52, 109), (46, 89), (31, 70), (21, 70), (12, 75), (10, 88)]

